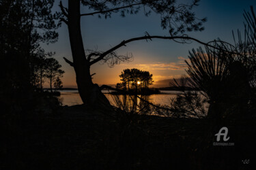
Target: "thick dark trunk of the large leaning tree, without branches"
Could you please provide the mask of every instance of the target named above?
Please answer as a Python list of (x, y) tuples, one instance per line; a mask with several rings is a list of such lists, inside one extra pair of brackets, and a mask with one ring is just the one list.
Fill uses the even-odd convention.
[(110, 106), (109, 101), (100, 91), (98, 84), (93, 84), (91, 81), (90, 65), (83, 47), (80, 18), (80, 1), (69, 0), (68, 33), (79, 95), (84, 104)]

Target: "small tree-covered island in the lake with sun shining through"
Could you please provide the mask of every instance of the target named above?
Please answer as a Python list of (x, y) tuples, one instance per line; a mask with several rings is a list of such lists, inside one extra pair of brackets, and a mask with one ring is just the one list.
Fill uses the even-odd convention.
[(124, 69), (119, 77), (122, 82), (115, 86), (118, 91), (111, 92), (111, 94), (152, 95), (160, 93), (157, 88), (149, 88), (154, 82), (153, 75), (149, 71)]

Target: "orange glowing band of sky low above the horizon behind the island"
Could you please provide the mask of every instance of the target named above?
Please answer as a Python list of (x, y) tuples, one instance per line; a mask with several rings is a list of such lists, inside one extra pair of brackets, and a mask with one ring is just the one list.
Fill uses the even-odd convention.
[[(115, 86), (117, 83), (121, 82), (119, 75), (124, 69), (140, 69), (142, 71), (149, 71), (153, 74), (154, 84), (150, 87), (158, 86), (162, 84), (162, 80), (172, 80), (173, 78), (179, 78), (180, 75), (185, 73), (184, 59), (182, 56), (178, 56), (176, 61), (172, 62), (156, 62), (156, 61), (145, 61), (141, 58), (146, 58), (145, 56), (140, 56), (139, 61), (133, 61), (132, 63), (121, 63), (120, 65), (115, 65), (113, 68), (109, 68), (108, 65), (93, 65), (91, 67), (91, 73), (96, 73), (92, 78), (94, 84), (102, 86), (103, 84), (109, 86)], [(66, 65), (66, 64), (65, 64)], [(70, 69), (68, 65), (66, 67), (69, 69), (64, 73), (62, 82), (63, 88), (77, 88), (76, 85), (76, 75), (73, 69)], [(138, 85), (141, 82), (137, 82)], [(48, 87), (48, 83), (45, 84)], [(162, 85), (161, 85), (162, 86)], [(169, 86), (165, 84), (163, 86)]]

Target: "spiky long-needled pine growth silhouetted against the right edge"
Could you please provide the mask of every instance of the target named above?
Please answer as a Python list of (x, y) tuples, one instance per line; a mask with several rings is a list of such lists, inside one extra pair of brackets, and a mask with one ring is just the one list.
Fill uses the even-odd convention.
[[(256, 18), (253, 7), (251, 14), (245, 12), (244, 17), (247, 22), (244, 37), (238, 31), (237, 36), (233, 33), (233, 45), (214, 41), (214, 48), (193, 49), (188, 56), (190, 62), (186, 61), (188, 85), (201, 90), (201, 96), (210, 104), (208, 118), (238, 118), (255, 113)], [(189, 105), (193, 101), (185, 103)]]

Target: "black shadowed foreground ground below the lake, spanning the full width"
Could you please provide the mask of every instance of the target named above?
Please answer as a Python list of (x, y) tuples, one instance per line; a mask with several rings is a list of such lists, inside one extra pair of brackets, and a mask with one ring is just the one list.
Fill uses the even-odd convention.
[[(213, 146), (223, 126), (234, 146)], [(162, 118), (75, 105), (47, 116), (6, 115), (1, 129), (0, 169), (255, 167), (255, 119)]]

